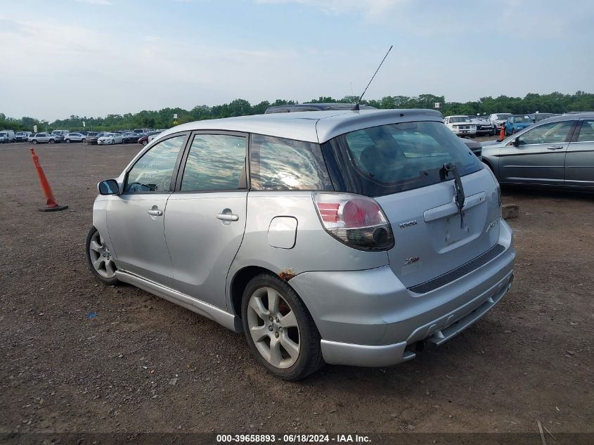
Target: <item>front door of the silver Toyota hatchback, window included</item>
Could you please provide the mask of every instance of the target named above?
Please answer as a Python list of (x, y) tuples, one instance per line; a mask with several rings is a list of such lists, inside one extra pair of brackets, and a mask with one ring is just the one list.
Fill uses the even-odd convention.
[(112, 196), (106, 209), (118, 268), (169, 286), (173, 267), (163, 221), (186, 138), (186, 134), (167, 138), (139, 157), (127, 173), (122, 193)]

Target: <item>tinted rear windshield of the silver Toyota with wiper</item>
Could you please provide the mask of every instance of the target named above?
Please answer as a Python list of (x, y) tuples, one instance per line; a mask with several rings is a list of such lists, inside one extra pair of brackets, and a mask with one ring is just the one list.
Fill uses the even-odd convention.
[(323, 144), (337, 191), (381, 196), (441, 181), (444, 164), (460, 176), (482, 169), (481, 162), (441, 122), (404, 122), (342, 134)]

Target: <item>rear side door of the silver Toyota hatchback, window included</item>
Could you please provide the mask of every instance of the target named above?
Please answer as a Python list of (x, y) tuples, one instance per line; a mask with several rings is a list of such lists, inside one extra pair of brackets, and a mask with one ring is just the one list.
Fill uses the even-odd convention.
[(167, 201), (174, 288), (221, 309), (245, 229), (246, 156), (246, 134), (195, 132)]

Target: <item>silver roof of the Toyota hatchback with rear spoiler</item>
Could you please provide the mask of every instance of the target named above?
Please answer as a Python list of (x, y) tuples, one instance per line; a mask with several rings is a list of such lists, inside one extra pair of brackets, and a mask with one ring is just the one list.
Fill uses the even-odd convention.
[(180, 131), (226, 130), (323, 143), (357, 129), (418, 120), (442, 122), (443, 116), (429, 109), (271, 113), (188, 122), (163, 131), (159, 140)]

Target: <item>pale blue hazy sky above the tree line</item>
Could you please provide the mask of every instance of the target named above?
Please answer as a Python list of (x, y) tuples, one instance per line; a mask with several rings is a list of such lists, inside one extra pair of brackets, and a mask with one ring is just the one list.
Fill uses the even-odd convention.
[(50, 122), (432, 93), (594, 92), (592, 0), (0, 0), (0, 112)]

